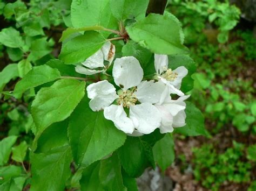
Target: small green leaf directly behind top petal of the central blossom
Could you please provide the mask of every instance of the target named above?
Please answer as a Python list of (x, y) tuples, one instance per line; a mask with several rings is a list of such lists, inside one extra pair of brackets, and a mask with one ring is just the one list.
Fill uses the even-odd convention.
[(134, 56), (137, 58), (143, 69), (147, 66), (152, 56), (152, 53), (148, 49), (143, 48), (132, 40), (123, 46), (122, 53), (123, 56)]

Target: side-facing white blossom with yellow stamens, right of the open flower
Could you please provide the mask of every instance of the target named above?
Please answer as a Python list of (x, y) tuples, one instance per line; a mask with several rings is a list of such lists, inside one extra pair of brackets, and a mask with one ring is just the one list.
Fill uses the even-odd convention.
[(163, 54), (154, 54), (154, 68), (160, 81), (167, 84), (171, 94), (183, 96), (180, 91), (181, 81), (188, 73), (184, 66), (180, 66), (174, 70), (168, 68), (168, 56)]

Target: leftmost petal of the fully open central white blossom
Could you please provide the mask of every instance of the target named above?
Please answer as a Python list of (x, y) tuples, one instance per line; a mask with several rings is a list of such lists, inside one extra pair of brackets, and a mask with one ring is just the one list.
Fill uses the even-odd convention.
[(92, 99), (89, 106), (93, 111), (99, 111), (113, 103), (118, 95), (116, 88), (107, 80), (90, 84), (87, 88), (87, 96)]

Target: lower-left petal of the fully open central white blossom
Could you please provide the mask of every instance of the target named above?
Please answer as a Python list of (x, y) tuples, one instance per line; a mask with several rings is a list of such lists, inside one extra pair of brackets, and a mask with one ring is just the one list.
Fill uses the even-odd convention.
[(114, 122), (117, 129), (125, 132), (132, 133), (134, 125), (130, 118), (127, 117), (123, 105), (110, 105), (104, 109), (104, 117)]

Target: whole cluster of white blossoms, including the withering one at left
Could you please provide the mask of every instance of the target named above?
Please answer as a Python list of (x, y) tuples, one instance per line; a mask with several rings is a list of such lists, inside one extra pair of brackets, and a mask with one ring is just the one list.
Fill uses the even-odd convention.
[[(78, 73), (90, 75), (106, 72), (114, 59), (114, 45), (109, 42), (90, 58), (77, 66)], [(104, 65), (104, 60), (108, 61)], [(117, 58), (113, 63), (113, 80), (87, 86), (93, 111), (104, 110), (104, 117), (111, 120), (117, 129), (130, 136), (141, 136), (160, 129), (161, 133), (172, 132), (173, 128), (185, 125), (185, 100), (189, 97), (180, 91), (181, 81), (187, 75), (184, 66), (168, 68), (167, 55), (154, 55), (156, 76), (143, 80), (143, 69), (133, 56)], [(97, 70), (96, 70), (97, 68)], [(172, 100), (171, 94), (179, 98)]]

